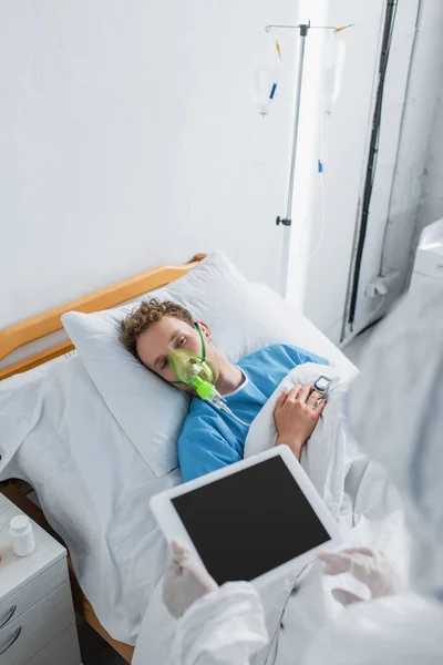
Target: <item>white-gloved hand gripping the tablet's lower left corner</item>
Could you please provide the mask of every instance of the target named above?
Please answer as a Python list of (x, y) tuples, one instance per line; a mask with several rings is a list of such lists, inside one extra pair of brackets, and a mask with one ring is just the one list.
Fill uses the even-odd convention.
[(218, 584), (187, 545), (172, 541), (171, 549), (173, 557), (163, 581), (163, 602), (179, 618), (195, 601), (216, 591)]

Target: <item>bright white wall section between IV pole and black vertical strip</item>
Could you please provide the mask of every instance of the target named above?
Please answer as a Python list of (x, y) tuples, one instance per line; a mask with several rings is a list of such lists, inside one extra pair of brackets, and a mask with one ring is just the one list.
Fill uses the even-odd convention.
[[(288, 290), (291, 299), (303, 301), (307, 316), (333, 341), (339, 341), (362, 171), (368, 149), (384, 2), (383, 0), (377, 2), (333, 0), (327, 3), (323, 16), (316, 14), (317, 7), (318, 4), (306, 9), (307, 18), (312, 20), (312, 24), (356, 23), (356, 27), (342, 33), (347, 42), (342, 91), (329, 121), (328, 157), (322, 176), (326, 196), (323, 239), (320, 249), (307, 264), (303, 256), (300, 256), (298, 229), (306, 223), (310, 226), (311, 241), (307, 249), (308, 256), (318, 247), (321, 235), (321, 205), (318, 197), (315, 201), (312, 183), (317, 181), (319, 156), (318, 100), (319, 72), (322, 66), (319, 52), (321, 52), (324, 33), (311, 31), (308, 38), (307, 68), (310, 71), (307, 79), (317, 75), (318, 84), (310, 85), (307, 94), (303, 89), (301, 132), (305, 134), (315, 125), (317, 143), (302, 145), (300, 150), (298, 175), (303, 192), (297, 191), (296, 185), (295, 229)], [(307, 173), (310, 173), (311, 177), (310, 206), (302, 209), (300, 215), (300, 197), (303, 200), (305, 190), (309, 186), (306, 183)]]

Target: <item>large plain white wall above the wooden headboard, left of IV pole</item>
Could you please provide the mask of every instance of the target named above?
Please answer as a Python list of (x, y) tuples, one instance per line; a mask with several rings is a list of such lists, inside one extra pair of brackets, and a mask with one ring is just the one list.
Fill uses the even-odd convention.
[(297, 2), (0, 0), (0, 327), (195, 253), (278, 286)]

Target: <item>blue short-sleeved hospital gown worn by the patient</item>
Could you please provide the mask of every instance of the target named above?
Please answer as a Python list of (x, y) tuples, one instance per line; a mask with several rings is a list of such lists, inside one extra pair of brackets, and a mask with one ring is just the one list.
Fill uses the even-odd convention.
[(184, 482), (243, 460), (249, 426), (286, 375), (297, 365), (324, 358), (284, 344), (275, 344), (237, 364), (246, 380), (225, 395), (229, 409), (244, 421), (193, 397), (178, 438), (178, 459)]

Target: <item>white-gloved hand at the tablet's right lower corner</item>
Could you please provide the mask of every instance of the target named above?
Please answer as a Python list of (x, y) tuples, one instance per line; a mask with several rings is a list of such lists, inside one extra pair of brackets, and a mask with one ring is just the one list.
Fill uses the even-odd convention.
[[(326, 563), (324, 574), (350, 573), (369, 587), (374, 598), (398, 593), (402, 587), (394, 563), (378, 550), (350, 548), (340, 552), (320, 552), (318, 557)], [(344, 589), (333, 589), (332, 595), (342, 605), (363, 600)]]

